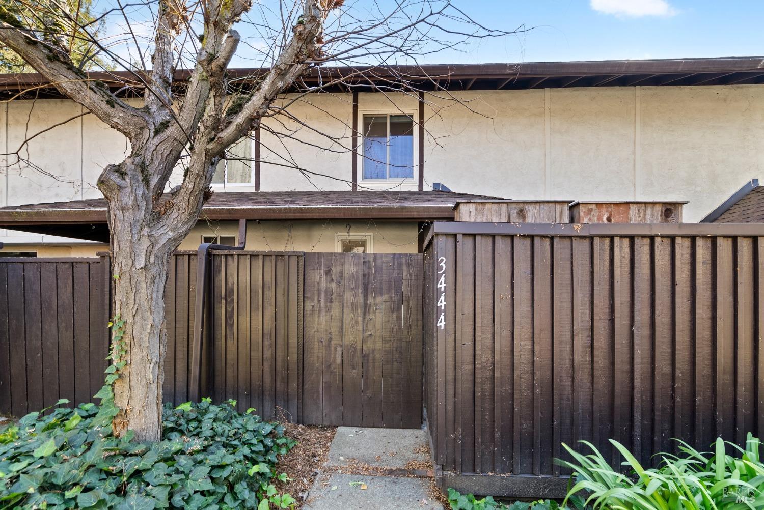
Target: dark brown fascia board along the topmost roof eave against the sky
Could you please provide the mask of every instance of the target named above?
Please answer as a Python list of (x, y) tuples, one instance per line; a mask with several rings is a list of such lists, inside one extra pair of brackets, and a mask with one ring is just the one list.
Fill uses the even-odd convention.
[[(764, 56), (720, 57), (700, 59), (666, 60), (591, 60), (576, 62), (526, 62), (526, 63), (485, 63), (485, 64), (426, 64), (422, 66), (358, 66), (328, 67), (310, 69), (303, 77), (306, 82), (319, 79), (361, 75), (374, 69), (374, 76), (379, 79), (405, 76), (406, 79), (507, 79), (533, 77), (571, 77), (571, 76), (630, 76), (630, 75), (689, 75), (697, 73), (755, 73), (764, 70)], [(257, 79), (267, 72), (267, 68), (228, 69), (228, 79), (232, 85), (237, 80), (246, 82)], [(177, 83), (186, 82), (191, 71), (179, 69), (175, 73)], [(90, 79), (99, 79), (107, 85), (134, 83), (142, 86), (143, 73), (131, 71), (88, 73)], [(367, 79), (367, 77), (364, 77)], [(361, 77), (359, 77), (361, 80)], [(0, 89), (22, 89), (29, 86), (44, 85), (47, 80), (39, 73), (0, 74)]]

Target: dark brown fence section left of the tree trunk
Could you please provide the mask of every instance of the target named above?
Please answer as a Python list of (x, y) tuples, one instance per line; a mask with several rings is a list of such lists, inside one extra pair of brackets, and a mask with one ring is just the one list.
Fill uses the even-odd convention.
[(108, 259), (0, 260), (0, 413), (89, 402), (108, 356)]

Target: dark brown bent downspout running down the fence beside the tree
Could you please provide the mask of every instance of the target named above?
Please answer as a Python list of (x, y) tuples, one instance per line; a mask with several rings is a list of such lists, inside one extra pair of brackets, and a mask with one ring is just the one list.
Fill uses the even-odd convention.
[(189, 380), (189, 399), (199, 402), (202, 393), (202, 338), (204, 337), (204, 315), (209, 276), (209, 250), (241, 251), (247, 244), (247, 220), (239, 220), (238, 246), (202, 243), (196, 250), (196, 296), (194, 298), (193, 343), (191, 345), (191, 377)]

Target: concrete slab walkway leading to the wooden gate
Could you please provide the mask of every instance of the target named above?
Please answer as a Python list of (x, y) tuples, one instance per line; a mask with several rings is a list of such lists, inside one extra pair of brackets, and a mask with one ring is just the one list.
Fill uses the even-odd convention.
[(431, 470), (424, 431), (338, 427), (304, 508), (442, 510), (429, 495)]

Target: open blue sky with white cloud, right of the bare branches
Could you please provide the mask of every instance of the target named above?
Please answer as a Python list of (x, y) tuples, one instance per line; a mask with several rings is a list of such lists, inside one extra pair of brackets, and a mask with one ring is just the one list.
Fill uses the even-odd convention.
[(440, 53), (440, 62), (535, 62), (764, 55), (764, 2), (707, 0), (455, 0), (515, 39)]

